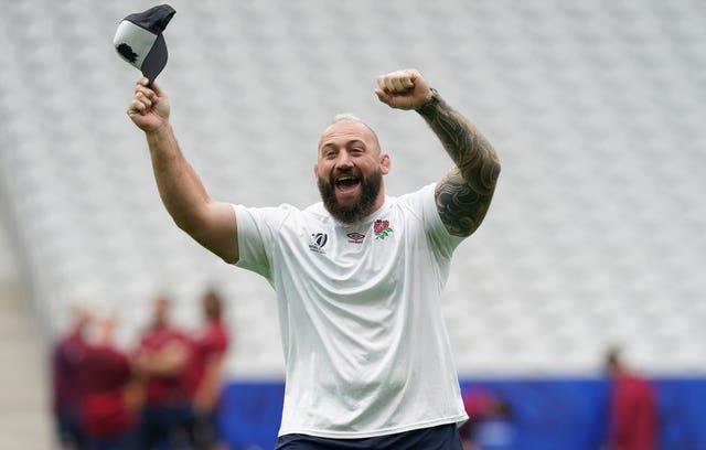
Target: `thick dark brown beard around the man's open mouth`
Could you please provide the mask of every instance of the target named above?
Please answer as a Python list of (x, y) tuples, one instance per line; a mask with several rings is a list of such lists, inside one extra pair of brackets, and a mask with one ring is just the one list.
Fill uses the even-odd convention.
[[(340, 175), (338, 173), (336, 175)], [(319, 193), (323, 201), (323, 206), (327, 211), (339, 222), (344, 224), (352, 224), (360, 222), (363, 217), (370, 215), (375, 206), (375, 201), (379, 194), (381, 186), (383, 184), (383, 173), (379, 168), (376, 168), (368, 176), (362, 176), (356, 174), (361, 182), (361, 197), (351, 205), (345, 206), (339, 203), (335, 196), (335, 185), (333, 183), (334, 176), (330, 180), (319, 178), (317, 185), (319, 186)]]

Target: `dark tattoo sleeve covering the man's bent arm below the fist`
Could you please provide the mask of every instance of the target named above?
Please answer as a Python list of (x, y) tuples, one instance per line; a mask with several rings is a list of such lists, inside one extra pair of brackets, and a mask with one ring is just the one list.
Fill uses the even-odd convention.
[(483, 221), (495, 191), (500, 161), (493, 146), (432, 89), (417, 111), (429, 124), (456, 167), (439, 180), (436, 202), (451, 235), (469, 236)]

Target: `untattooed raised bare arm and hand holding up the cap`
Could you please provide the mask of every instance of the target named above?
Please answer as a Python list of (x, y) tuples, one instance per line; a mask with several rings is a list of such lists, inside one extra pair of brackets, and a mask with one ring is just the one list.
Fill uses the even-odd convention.
[(235, 212), (208, 196), (182, 154), (169, 124), (169, 99), (157, 84), (138, 81), (128, 116), (145, 131), (162, 203), (176, 225), (227, 262), (237, 262)]

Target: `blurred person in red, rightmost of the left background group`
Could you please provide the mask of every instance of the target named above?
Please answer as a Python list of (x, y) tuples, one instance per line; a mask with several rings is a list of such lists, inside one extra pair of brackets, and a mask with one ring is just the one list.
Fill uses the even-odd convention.
[(218, 443), (217, 410), (223, 362), (228, 350), (228, 332), (222, 321), (223, 301), (215, 290), (201, 299), (205, 325), (192, 338), (189, 362), (183, 373), (184, 389), (191, 399), (191, 438), (199, 450)]

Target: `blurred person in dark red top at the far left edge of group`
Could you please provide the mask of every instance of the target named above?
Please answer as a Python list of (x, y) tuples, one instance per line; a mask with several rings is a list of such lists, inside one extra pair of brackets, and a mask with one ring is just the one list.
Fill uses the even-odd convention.
[(79, 430), (78, 371), (86, 354), (84, 332), (90, 322), (90, 312), (84, 306), (72, 311), (72, 323), (61, 335), (52, 351), (52, 408), (58, 444), (63, 450), (83, 449)]

